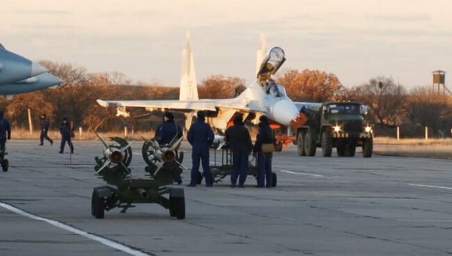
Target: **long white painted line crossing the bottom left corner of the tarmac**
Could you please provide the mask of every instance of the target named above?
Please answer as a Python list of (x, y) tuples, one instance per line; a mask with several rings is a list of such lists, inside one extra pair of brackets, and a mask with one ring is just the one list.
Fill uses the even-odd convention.
[(85, 237), (87, 239), (91, 239), (93, 241), (97, 241), (99, 243), (102, 243), (102, 244), (104, 244), (104, 245), (106, 245), (108, 247), (114, 248), (116, 250), (121, 250), (124, 253), (128, 253), (129, 255), (151, 256), (151, 255), (149, 255), (147, 253), (143, 253), (143, 252), (140, 252), (139, 250), (135, 250), (133, 248), (130, 248), (129, 246), (124, 246), (121, 243), (112, 241), (110, 239), (106, 239), (104, 237), (98, 237), (95, 234), (90, 234), (90, 233), (85, 232), (83, 230), (79, 230), (76, 227), (71, 227), (70, 225), (66, 225), (64, 223), (60, 223), (59, 221), (54, 221), (54, 220), (51, 220), (49, 218), (43, 218), (43, 217), (40, 217), (40, 216), (36, 216), (34, 214), (29, 214), (26, 211), (22, 211), (21, 209), (13, 207), (12, 205), (8, 205), (8, 204), (6, 204), (4, 202), (0, 202), (0, 207), (3, 207), (3, 208), (8, 209), (10, 211), (13, 211), (16, 214), (25, 216), (27, 218), (31, 218), (31, 219), (33, 219), (35, 221), (44, 221), (45, 223), (49, 223), (50, 225), (53, 225), (54, 227), (59, 227), (62, 230), (66, 230), (66, 231), (72, 232), (74, 234), (79, 234), (82, 237)]

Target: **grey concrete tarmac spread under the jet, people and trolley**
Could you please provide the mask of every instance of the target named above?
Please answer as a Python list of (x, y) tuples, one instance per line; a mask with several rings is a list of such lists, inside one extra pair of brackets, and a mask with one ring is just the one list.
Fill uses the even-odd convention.
[[(159, 205), (126, 214), (90, 213), (102, 186), (93, 171), (99, 142), (8, 142), (10, 170), (0, 172), (0, 255), (451, 255), (451, 161), (275, 154), (277, 187), (185, 188), (186, 219)], [(131, 168), (144, 176), (140, 146)], [(191, 168), (184, 145), (184, 166)], [(70, 159), (72, 158), (72, 159)], [(211, 158), (213, 159), (213, 158)], [(183, 174), (184, 184), (189, 174)], [(177, 186), (177, 185), (176, 185)]]

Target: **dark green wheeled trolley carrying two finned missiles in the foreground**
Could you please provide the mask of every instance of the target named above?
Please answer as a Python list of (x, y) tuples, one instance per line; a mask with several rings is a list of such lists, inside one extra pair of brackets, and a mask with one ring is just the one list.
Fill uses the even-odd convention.
[(95, 171), (107, 183), (97, 186), (92, 191), (91, 214), (95, 218), (104, 218), (104, 211), (121, 208), (122, 213), (135, 207), (138, 203), (156, 203), (169, 209), (170, 216), (178, 219), (185, 218), (184, 189), (168, 186), (172, 184), (175, 173), (181, 173), (180, 159), (175, 149), (179, 147), (181, 139), (173, 141), (168, 147), (160, 147), (159, 143), (146, 141), (145, 145), (153, 151), (152, 166), (145, 170), (150, 177), (132, 177), (129, 164), (132, 160), (131, 144), (122, 138), (111, 138), (108, 145), (96, 134), (104, 145), (103, 157), (95, 157)]

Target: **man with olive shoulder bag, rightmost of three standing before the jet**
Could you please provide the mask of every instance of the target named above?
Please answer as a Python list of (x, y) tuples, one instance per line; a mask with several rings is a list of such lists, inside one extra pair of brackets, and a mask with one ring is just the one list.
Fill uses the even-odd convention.
[(259, 134), (256, 136), (256, 143), (253, 149), (253, 155), (257, 154), (257, 187), (263, 188), (265, 179), (266, 187), (271, 188), (271, 159), (273, 153), (262, 152), (262, 144), (275, 143), (275, 135), (273, 134), (266, 115), (262, 115), (259, 118), (259, 121)]

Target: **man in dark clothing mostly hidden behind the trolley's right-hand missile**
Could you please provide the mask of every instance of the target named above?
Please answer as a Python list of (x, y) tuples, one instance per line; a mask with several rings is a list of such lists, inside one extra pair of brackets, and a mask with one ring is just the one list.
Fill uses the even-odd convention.
[[(169, 145), (173, 140), (177, 141), (183, 136), (182, 128), (175, 122), (175, 116), (170, 112), (163, 114), (163, 123), (157, 128), (155, 140), (159, 145)], [(177, 154), (177, 152), (176, 152)], [(181, 174), (175, 173), (174, 181), (182, 183)]]

